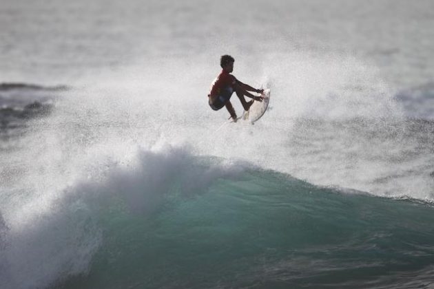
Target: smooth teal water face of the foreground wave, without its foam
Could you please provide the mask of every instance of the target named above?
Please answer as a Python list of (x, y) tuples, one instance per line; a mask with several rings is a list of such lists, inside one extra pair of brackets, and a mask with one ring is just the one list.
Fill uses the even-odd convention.
[(147, 214), (114, 197), (99, 214), (104, 242), (89, 274), (61, 288), (424, 288), (434, 281), (434, 209), (424, 202), (260, 169), (200, 191), (182, 187), (170, 187)]

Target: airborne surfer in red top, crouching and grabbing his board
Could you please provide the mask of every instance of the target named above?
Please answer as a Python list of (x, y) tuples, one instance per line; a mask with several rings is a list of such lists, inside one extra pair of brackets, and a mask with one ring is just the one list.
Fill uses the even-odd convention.
[[(220, 74), (218, 74), (217, 78), (211, 84), (211, 89), (208, 94), (208, 103), (211, 109), (214, 110), (218, 110), (226, 106), (231, 118), (234, 120), (234, 122), (236, 122), (237, 116), (235, 109), (232, 107), (232, 104), (229, 101), (232, 93), (236, 92), (236, 95), (238, 98), (240, 98), (242, 107), (244, 107), (245, 111), (248, 111), (249, 107), (254, 103), (254, 100), (262, 102), (264, 99), (262, 96), (254, 96), (250, 92), (262, 94), (264, 89), (254, 89), (250, 85), (238, 81), (235, 76), (230, 74), (234, 71), (234, 61), (235, 59), (230, 55), (221, 56), (220, 66), (223, 68), (223, 70), (220, 72)], [(247, 102), (244, 96), (253, 99)]]

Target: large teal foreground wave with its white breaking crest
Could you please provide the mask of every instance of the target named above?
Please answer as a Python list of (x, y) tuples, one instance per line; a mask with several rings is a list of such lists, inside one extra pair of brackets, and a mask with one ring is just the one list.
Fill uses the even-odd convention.
[(434, 281), (430, 203), (315, 186), (167, 143), (69, 173), (42, 191), (3, 191), (2, 288)]

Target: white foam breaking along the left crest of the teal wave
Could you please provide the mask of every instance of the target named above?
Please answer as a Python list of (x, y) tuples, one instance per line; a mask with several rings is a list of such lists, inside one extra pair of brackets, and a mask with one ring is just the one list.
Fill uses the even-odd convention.
[(101, 246), (99, 214), (110, 200), (123, 200), (130, 213), (151, 215), (161, 208), (168, 193), (205, 193), (218, 178), (233, 178), (246, 166), (200, 160), (188, 145), (165, 141), (136, 147), (128, 158), (116, 160), (105, 153), (98, 158), (93, 166), (82, 167), (87, 175), (71, 173), (69, 182), (65, 182), (68, 176), (63, 178), (63, 188), (46, 171), (46, 177), (52, 178), (45, 182), (56, 184), (54, 191), (34, 186), (24, 203), (9, 204), (5, 222), (0, 223), (0, 267), (6, 268), (0, 275), (2, 288), (46, 287), (85, 274)]

